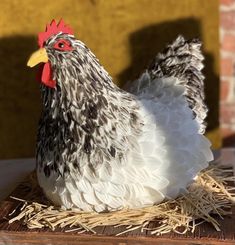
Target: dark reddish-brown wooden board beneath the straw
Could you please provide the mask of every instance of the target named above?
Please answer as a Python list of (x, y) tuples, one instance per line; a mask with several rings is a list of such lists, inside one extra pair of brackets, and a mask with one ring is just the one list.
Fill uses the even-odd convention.
[[(12, 193), (15, 197), (24, 197), (27, 188), (17, 187)], [(162, 236), (153, 236), (150, 231), (141, 233), (140, 230), (129, 232), (122, 236), (115, 236), (122, 228), (100, 227), (95, 229), (96, 235), (76, 232), (67, 233), (63, 229), (50, 231), (49, 229), (29, 230), (21, 222), (8, 223), (8, 215), (19, 206), (19, 202), (8, 198), (0, 204), (0, 244), (56, 244), (56, 245), (212, 245), (212, 244), (235, 244), (235, 207), (232, 215), (223, 220), (218, 217), (221, 231), (217, 232), (210, 224), (202, 224), (194, 233), (180, 235), (170, 233)]]

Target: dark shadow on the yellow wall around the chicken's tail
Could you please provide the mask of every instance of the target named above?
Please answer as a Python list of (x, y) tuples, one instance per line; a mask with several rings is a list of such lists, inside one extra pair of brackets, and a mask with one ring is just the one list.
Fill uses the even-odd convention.
[[(144, 27), (130, 35), (131, 65), (121, 72), (118, 79), (121, 84), (137, 78), (147, 67), (158, 52), (161, 52), (168, 43), (178, 35), (186, 39), (199, 38), (203, 42), (200, 20), (195, 18), (179, 19)], [(213, 42), (213, 40), (211, 41)], [(206, 103), (209, 106), (207, 117), (207, 131), (219, 127), (219, 77), (214, 71), (214, 58), (203, 52), (205, 56), (205, 93)]]

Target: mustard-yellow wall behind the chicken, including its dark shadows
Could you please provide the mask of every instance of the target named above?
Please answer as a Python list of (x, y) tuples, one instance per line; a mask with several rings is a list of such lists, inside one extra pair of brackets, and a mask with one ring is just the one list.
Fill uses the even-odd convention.
[(26, 60), (36, 35), (63, 17), (119, 84), (135, 78), (178, 34), (203, 40), (209, 135), (218, 135), (217, 0), (1, 0), (0, 158), (34, 155), (39, 86)]

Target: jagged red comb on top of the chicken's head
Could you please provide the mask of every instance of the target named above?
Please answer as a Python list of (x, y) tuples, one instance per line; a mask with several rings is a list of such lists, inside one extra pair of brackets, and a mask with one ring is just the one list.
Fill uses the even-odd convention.
[(55, 20), (51, 21), (51, 24), (47, 24), (45, 32), (40, 32), (38, 34), (38, 45), (40, 48), (43, 47), (44, 42), (54, 34), (57, 33), (67, 33), (73, 35), (73, 30), (64, 24), (64, 21), (61, 19), (58, 24)]

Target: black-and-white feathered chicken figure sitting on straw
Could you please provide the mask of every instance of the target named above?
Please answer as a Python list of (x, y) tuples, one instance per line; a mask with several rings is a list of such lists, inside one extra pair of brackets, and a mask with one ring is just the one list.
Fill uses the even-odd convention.
[(117, 87), (70, 27), (53, 20), (28, 66), (42, 63), (37, 176), (63, 208), (115, 211), (176, 198), (213, 155), (198, 40), (178, 37)]

